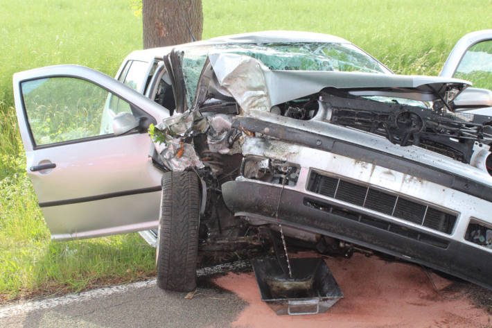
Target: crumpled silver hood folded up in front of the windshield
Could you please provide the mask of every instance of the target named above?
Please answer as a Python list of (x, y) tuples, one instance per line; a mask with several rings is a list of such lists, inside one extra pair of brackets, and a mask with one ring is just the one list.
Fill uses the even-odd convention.
[(394, 96), (417, 101), (457, 96), (471, 83), (437, 76), (404, 76), (356, 71), (272, 71), (261, 61), (234, 53), (209, 54), (219, 86), (245, 112), (270, 111), (285, 101), (315, 94), (326, 87), (349, 89), (360, 96)]

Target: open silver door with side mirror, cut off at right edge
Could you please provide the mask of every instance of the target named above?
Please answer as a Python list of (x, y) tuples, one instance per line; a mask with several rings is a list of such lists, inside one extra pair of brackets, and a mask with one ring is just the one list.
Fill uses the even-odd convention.
[(455, 105), (473, 114), (492, 115), (492, 30), (464, 35), (450, 52), (439, 73), (473, 83), (457, 96)]

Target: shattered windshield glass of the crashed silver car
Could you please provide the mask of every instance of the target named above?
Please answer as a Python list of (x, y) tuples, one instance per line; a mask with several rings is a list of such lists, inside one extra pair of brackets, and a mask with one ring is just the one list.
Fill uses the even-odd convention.
[(191, 106), (198, 78), (209, 53), (236, 53), (281, 71), (359, 71), (390, 73), (380, 62), (348, 43), (219, 44), (184, 49), (186, 100)]

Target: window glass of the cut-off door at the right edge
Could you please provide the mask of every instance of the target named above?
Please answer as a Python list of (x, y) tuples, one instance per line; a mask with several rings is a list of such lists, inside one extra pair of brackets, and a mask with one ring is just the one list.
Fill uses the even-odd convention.
[(492, 40), (471, 46), (453, 77), (471, 81), (473, 87), (492, 89)]

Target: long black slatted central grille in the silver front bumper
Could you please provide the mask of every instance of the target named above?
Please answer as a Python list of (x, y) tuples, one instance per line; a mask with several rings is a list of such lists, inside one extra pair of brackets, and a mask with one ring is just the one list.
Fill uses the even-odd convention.
[(457, 219), (455, 214), (442, 212), (430, 205), (317, 172), (310, 174), (308, 191), (401, 218), (445, 234), (453, 232)]

